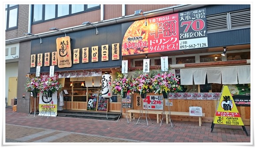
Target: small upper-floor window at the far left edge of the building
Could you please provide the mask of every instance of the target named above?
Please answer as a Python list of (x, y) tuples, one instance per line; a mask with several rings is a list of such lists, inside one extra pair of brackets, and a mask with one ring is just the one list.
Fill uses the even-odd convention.
[(18, 8), (17, 4), (5, 5), (5, 30), (18, 28)]

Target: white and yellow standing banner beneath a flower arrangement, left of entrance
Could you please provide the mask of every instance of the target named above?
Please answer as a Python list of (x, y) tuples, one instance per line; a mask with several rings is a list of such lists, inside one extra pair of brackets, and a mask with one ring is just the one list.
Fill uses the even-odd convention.
[(57, 115), (57, 93), (53, 93), (51, 98), (48, 98), (47, 94), (39, 93), (39, 114), (41, 116)]

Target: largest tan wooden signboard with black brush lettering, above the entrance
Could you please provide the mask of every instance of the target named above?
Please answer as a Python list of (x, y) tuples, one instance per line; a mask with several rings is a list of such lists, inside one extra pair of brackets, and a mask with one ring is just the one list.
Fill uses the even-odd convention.
[(72, 55), (70, 37), (58, 37), (56, 39), (58, 67), (72, 67)]

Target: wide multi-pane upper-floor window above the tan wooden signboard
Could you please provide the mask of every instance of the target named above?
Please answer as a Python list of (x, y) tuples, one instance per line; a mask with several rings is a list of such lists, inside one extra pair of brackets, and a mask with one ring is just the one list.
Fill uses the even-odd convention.
[(100, 9), (99, 4), (34, 4), (32, 5), (32, 23), (97, 9)]

